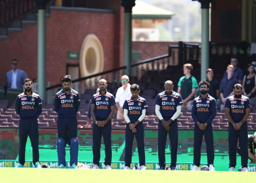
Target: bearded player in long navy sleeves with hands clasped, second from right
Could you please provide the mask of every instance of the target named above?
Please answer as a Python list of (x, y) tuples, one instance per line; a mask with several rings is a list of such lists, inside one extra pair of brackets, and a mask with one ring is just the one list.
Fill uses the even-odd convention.
[(215, 171), (213, 166), (213, 130), (212, 120), (216, 116), (216, 100), (208, 94), (210, 84), (206, 81), (199, 82), (201, 95), (193, 100), (191, 116), (195, 121), (194, 127), (194, 166), (192, 170), (200, 170), (201, 147), (203, 135), (206, 143), (207, 161), (209, 171)]

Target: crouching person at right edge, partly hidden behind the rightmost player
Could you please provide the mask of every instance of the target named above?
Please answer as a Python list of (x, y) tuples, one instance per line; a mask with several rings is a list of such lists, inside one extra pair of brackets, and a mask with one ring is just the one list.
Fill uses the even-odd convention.
[[(253, 135), (248, 135), (248, 159), (251, 160), (249, 164), (256, 164), (256, 132)], [(241, 156), (240, 144), (236, 148), (237, 153)]]

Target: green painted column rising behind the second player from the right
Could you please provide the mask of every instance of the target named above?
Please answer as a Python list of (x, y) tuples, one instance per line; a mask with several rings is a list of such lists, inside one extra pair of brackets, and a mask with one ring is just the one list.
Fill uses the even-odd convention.
[(209, 8), (202, 7), (202, 31), (201, 31), (201, 80), (207, 79), (206, 70), (209, 68), (210, 43), (209, 43)]

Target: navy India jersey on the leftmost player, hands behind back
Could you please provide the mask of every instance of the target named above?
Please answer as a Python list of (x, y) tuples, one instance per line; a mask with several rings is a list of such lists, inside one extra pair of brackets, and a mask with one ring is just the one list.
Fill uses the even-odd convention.
[(21, 118), (37, 118), (42, 113), (42, 100), (33, 91), (29, 97), (26, 92), (20, 93), (16, 98), (15, 111)]

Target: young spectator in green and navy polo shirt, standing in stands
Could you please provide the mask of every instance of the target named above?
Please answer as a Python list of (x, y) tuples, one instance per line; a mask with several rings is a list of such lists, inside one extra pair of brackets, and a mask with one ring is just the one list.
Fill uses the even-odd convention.
[(189, 111), (192, 110), (192, 102), (198, 86), (196, 78), (190, 74), (191, 70), (193, 70), (193, 65), (185, 63), (183, 65), (183, 74), (185, 76), (182, 76), (178, 83), (178, 93), (183, 101), (182, 108), (186, 108)]

